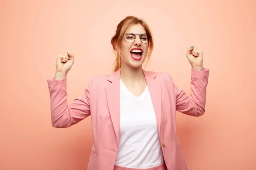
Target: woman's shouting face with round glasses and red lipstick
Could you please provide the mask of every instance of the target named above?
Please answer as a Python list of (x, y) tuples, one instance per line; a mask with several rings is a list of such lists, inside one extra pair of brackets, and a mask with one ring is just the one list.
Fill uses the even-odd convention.
[(146, 31), (142, 25), (130, 26), (125, 31), (120, 45), (122, 66), (132, 68), (142, 67), (148, 53), (147, 42)]

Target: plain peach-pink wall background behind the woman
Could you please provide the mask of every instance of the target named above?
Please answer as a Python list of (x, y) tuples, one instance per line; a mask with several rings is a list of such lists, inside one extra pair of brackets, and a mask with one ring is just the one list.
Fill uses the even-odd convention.
[(111, 36), (124, 17), (135, 15), (155, 40), (145, 69), (168, 72), (187, 94), (186, 48), (204, 51), (206, 113), (177, 113), (189, 170), (255, 170), (255, 7), (255, 0), (0, 0), (0, 169), (87, 169), (90, 117), (53, 128), (46, 79), (54, 76), (57, 55), (73, 51), (72, 102), (91, 77), (111, 73)]

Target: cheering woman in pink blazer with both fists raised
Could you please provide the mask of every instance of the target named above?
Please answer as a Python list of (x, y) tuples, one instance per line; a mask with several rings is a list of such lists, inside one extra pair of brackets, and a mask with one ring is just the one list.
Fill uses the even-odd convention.
[(112, 37), (114, 72), (93, 77), (83, 94), (67, 104), (71, 52), (58, 55), (55, 78), (48, 79), (52, 126), (70, 127), (91, 115), (93, 146), (87, 170), (186, 170), (176, 133), (176, 111), (204, 114), (209, 70), (203, 52), (191, 46), (191, 95), (177, 88), (166, 73), (142, 69), (153, 50), (144, 20), (128, 16)]

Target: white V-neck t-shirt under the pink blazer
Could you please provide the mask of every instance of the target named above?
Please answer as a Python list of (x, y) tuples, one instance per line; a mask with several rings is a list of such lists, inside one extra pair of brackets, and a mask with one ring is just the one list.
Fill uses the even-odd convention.
[(146, 86), (139, 97), (120, 79), (120, 135), (116, 165), (150, 168), (164, 164), (151, 96)]

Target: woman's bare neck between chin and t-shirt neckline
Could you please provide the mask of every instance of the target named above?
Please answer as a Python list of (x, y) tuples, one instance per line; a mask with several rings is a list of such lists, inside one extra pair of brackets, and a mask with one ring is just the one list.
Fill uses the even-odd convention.
[(131, 84), (134, 84), (134, 83), (136, 84), (136, 83), (145, 81), (142, 67), (129, 68), (129, 67), (122, 66), (121, 72), (120, 72), (120, 79), (122, 79), (123, 82), (129, 82)]

